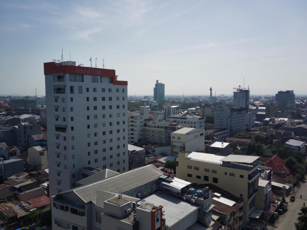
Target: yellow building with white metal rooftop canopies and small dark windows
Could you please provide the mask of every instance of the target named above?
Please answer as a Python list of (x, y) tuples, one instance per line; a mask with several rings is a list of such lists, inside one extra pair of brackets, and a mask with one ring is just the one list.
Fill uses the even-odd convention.
[(176, 177), (204, 184), (212, 183), (243, 198), (243, 225), (256, 212), (259, 180), (257, 156), (213, 155), (200, 152), (180, 152)]

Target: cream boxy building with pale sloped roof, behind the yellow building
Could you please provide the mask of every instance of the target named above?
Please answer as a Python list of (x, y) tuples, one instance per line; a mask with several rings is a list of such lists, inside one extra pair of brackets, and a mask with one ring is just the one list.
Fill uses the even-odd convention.
[(205, 141), (204, 129), (181, 128), (171, 134), (171, 152), (202, 151)]

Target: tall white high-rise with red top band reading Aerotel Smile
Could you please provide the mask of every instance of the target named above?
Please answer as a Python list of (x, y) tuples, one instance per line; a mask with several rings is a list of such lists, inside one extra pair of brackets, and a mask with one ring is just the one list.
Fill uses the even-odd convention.
[(127, 82), (73, 61), (44, 71), (50, 195), (73, 188), (84, 167), (128, 171)]

